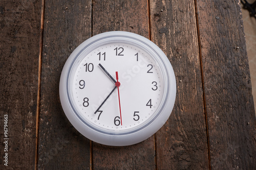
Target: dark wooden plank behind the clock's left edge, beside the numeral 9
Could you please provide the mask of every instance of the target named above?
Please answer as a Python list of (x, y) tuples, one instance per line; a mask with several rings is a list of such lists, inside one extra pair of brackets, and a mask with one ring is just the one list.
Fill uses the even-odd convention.
[(46, 1), (41, 71), (39, 169), (90, 168), (90, 140), (69, 122), (59, 78), (69, 55), (91, 36), (91, 1)]

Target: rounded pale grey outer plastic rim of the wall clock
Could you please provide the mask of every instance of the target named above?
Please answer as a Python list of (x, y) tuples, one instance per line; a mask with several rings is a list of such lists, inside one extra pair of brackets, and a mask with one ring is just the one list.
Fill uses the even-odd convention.
[[(94, 125), (92, 128), (87, 124), (84, 124), (81, 118), (77, 116), (77, 113), (75, 113), (74, 108), (72, 108), (73, 107), (71, 104), (72, 102), (70, 101), (71, 99), (69, 98), (69, 92), (68, 92), (69, 89), (67, 84), (69, 81), (70, 69), (73, 68), (73, 64), (77, 60), (77, 56), (79, 56), (79, 54), (82, 53), (83, 50), (86, 49), (88, 46), (94, 43), (101, 43), (101, 40), (105, 40), (110, 37), (114, 37), (114, 38), (125, 37), (128, 39), (129, 38), (136, 39), (141, 41), (143, 45), (152, 48), (152, 50), (154, 50), (154, 52), (157, 54), (156, 57), (159, 58), (158, 60), (161, 61), (161, 65), (164, 66), (164, 68), (161, 68), (161, 71), (162, 69), (164, 69), (165, 70), (164, 74), (167, 75), (167, 81), (168, 81), (167, 83), (169, 87), (168, 89), (166, 89), (167, 91), (166, 96), (164, 96), (164, 98), (166, 98), (165, 101), (163, 102), (164, 106), (159, 106), (161, 107), (160, 109), (161, 113), (156, 113), (155, 115), (152, 115), (155, 117), (153, 117), (153, 119), (151, 119), (150, 122), (146, 121), (146, 124), (142, 126), (140, 129), (136, 127), (132, 128), (133, 131), (130, 129), (127, 129), (123, 131), (120, 130), (121, 133), (119, 131), (113, 131), (113, 133), (110, 133), (110, 130), (108, 130), (108, 132), (103, 131), (102, 133), (102, 130), (99, 130), (99, 129), (103, 129), (103, 128), (99, 128), (96, 125)], [(152, 55), (152, 52), (150, 51), (147, 51), (147, 53)], [(59, 95), (60, 95), (60, 102), (61, 102), (63, 111), (65, 112), (71, 124), (82, 135), (101, 144), (116, 145), (116, 146), (131, 145), (131, 144), (135, 144), (140, 141), (143, 141), (148, 137), (152, 136), (165, 124), (166, 120), (168, 119), (174, 107), (175, 98), (176, 98), (176, 80), (175, 80), (175, 75), (174, 75), (172, 65), (170, 64), (166, 55), (155, 43), (138, 34), (123, 32), (123, 31), (112, 31), (112, 32), (101, 33), (87, 39), (86, 41), (82, 42), (73, 51), (73, 53), (70, 55), (70, 57), (66, 61), (65, 66), (63, 67), (61, 72), (60, 84), (59, 84)]]

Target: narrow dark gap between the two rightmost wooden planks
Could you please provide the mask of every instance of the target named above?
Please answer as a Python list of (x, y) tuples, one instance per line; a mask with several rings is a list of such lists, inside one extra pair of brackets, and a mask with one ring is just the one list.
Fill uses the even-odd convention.
[(197, 0), (195, 0), (195, 12), (196, 12), (196, 14), (195, 14), (196, 15), (196, 22), (197, 22), (197, 35), (198, 35), (199, 57), (200, 57), (200, 69), (201, 69), (202, 88), (203, 88), (203, 103), (204, 103), (205, 127), (206, 127), (207, 149), (208, 149), (208, 166), (209, 166), (209, 169), (211, 169), (211, 166), (210, 166), (210, 142), (209, 142), (209, 131), (208, 131), (206, 100), (205, 100), (205, 90), (204, 90), (203, 60), (202, 60), (202, 49), (201, 49), (201, 40), (200, 40), (200, 31), (199, 31)]

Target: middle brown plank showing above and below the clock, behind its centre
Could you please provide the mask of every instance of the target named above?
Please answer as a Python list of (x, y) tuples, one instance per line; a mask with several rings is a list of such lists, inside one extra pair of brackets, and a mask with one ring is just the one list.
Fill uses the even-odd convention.
[[(147, 1), (94, 1), (93, 35), (107, 31), (129, 31), (149, 38)], [(93, 142), (94, 169), (155, 169), (154, 155), (154, 136), (128, 147)]]

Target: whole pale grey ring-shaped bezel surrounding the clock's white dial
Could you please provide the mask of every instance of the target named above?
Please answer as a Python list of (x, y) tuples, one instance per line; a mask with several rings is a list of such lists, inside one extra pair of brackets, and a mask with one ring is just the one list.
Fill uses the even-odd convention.
[[(154, 113), (154, 115), (152, 115), (148, 120), (145, 120), (142, 125), (131, 129), (106, 130), (84, 120), (82, 117), (80, 117), (75, 103), (72, 100), (72, 94), (70, 94), (72, 87), (71, 82), (73, 80), (72, 74), (74, 74), (79, 60), (83, 58), (84, 53), (89, 54), (92, 51), (88, 49), (95, 49), (102, 44), (106, 44), (107, 42), (122, 42), (126, 44), (130, 43), (132, 45), (136, 44), (136, 46), (142, 48), (155, 60), (157, 60), (163, 75), (163, 81), (165, 81), (163, 93), (163, 96), (165, 95), (165, 99), (162, 99), (162, 106), (160, 105), (156, 110), (158, 113)], [(83, 56), (80, 55), (81, 53), (83, 53)], [(61, 72), (59, 94), (61, 105), (66, 116), (70, 120), (71, 124), (81, 134), (93, 141), (106, 145), (131, 145), (152, 136), (164, 125), (172, 112), (175, 103), (176, 80), (172, 65), (156, 44), (134, 33), (114, 31), (93, 36), (81, 43), (74, 50), (66, 61)]]

